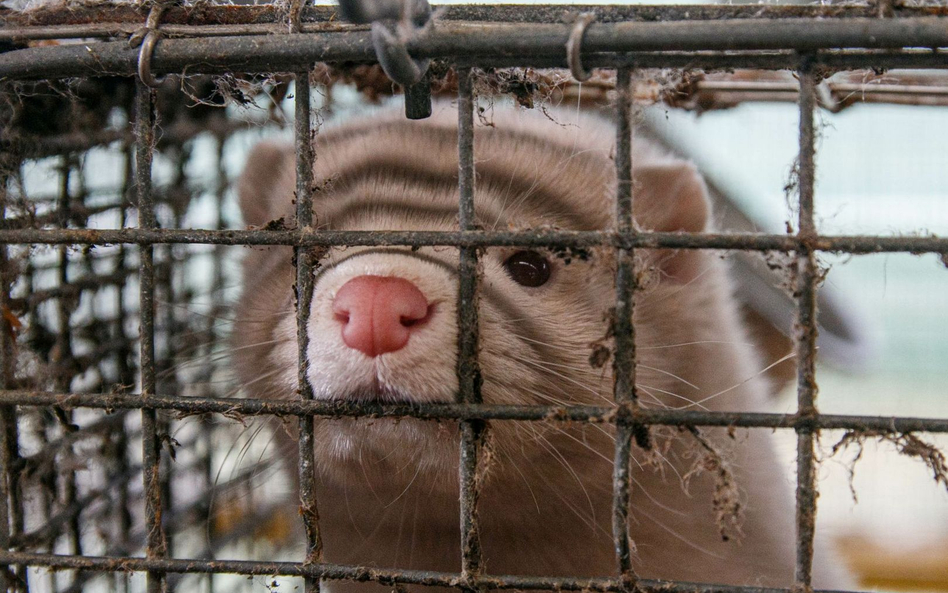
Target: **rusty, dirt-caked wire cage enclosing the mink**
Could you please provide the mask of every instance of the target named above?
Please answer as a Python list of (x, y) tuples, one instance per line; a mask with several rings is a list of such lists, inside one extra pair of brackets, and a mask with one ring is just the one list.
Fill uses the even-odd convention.
[[(306, 590), (317, 590), (325, 580), (371, 581), (396, 589), (424, 585), (463, 590), (764, 590), (654, 581), (635, 573), (628, 468), (633, 448), (645, 443), (650, 427), (658, 425), (795, 431), (795, 578), (799, 588), (811, 589), (817, 497), (814, 448), (819, 432), (844, 429), (892, 436), (948, 432), (945, 419), (818, 411), (817, 254), (937, 253), (948, 261), (948, 239), (819, 234), (814, 219), (814, 112), (820, 106), (839, 109), (854, 101), (948, 102), (946, 87), (938, 84), (946, 66), (948, 9), (886, 0), (839, 6), (595, 6), (581, 11), (541, 5), (450, 6), (426, 13), (410, 35), (380, 46), (374, 29), (379, 21), (396, 20), (393, 14), (401, 14), (401, 3), (346, 6), (346, 16), (355, 24), (343, 23), (333, 7), (298, 2), (3, 9), (0, 565), (7, 590), (142, 588), (129, 574), (146, 575), (148, 591), (187, 588), (183, 579), (195, 574), (211, 575), (207, 582), (213, 588), (214, 577), (223, 573), (301, 577)], [(366, 25), (372, 22), (370, 30)], [(432, 22), (436, 26), (430, 26)], [(130, 44), (129, 37), (135, 43)], [(348, 77), (358, 79), (363, 89), (390, 92), (394, 87), (388, 78), (370, 80), (379, 70), (367, 65), (377, 59), (392, 79), (404, 83), (410, 117), (424, 117), (432, 92), (456, 93), (457, 231), (313, 228), (314, 89), (331, 84), (327, 81), (333, 77)], [(484, 80), (496, 84), (498, 72), (505, 68), (566, 68), (577, 79), (587, 79), (587, 69), (615, 72), (606, 82), (594, 78), (587, 87), (593, 94), (597, 88), (608, 91), (614, 104), (618, 181), (614, 230), (476, 227), (475, 86)], [(858, 76), (845, 78), (851, 71), (895, 68), (916, 73), (885, 88), (860, 86), (854, 82)], [(635, 228), (633, 103), (648, 89), (633, 84), (633, 78), (654, 69), (725, 73), (717, 78), (683, 76), (673, 92), (656, 91), (657, 99), (671, 105), (727, 106), (749, 95), (798, 103), (795, 230), (712, 234)], [(759, 72), (746, 80), (727, 74), (734, 69)], [(158, 77), (173, 74), (186, 76), (165, 81)], [(835, 78), (827, 84), (824, 79), (831, 75)], [(544, 81), (552, 88), (569, 92), (569, 77), (549, 76)], [(297, 226), (238, 228), (227, 204), (232, 171), (225, 147), (240, 131), (286, 126), (290, 118), (281, 105), (289, 104), (290, 88), (295, 105)], [(498, 88), (524, 98), (523, 85)], [(258, 102), (264, 109), (253, 116), (238, 115), (225, 108), (235, 102)], [(216, 155), (216, 160), (195, 156), (196, 142), (204, 142), (202, 154)], [(294, 248), (297, 400), (253, 394), (229, 397), (221, 354), (226, 336), (215, 320), (225, 315), (227, 295), (237, 283), (227, 247), (244, 245)], [(318, 248), (334, 245), (459, 249), (456, 403), (340, 404), (313, 398), (306, 374), (312, 364), (305, 355), (307, 303), (313, 295)], [(487, 246), (616, 250), (614, 405), (482, 402), (474, 303), (478, 257)], [(655, 248), (782, 252), (794, 258), (795, 413), (675, 411), (639, 404), (631, 322), (637, 288), (633, 255), (637, 249)], [(197, 362), (182, 364), (182, 360)], [(456, 573), (322, 561), (316, 469), (312, 456), (305, 454), (313, 448), (312, 418), (317, 416), (459, 421), (463, 552)], [(302, 557), (217, 559), (219, 550), (231, 541), (258, 535), (259, 511), (234, 513), (227, 529), (218, 528), (223, 519), (213, 513), (209, 493), (265, 509), (263, 502), (254, 502), (254, 497), (262, 498), (261, 482), (266, 480), (261, 476), (286, 471), (274, 467), (273, 460), (259, 459), (243, 469), (231, 468), (222, 480), (221, 461), (215, 458), (222, 447), (243, 447), (242, 453), (256, 454), (240, 444), (239, 431), (235, 436), (232, 426), (215, 420), (220, 417), (298, 422), (303, 454), (299, 467), (289, 469), (299, 472), (300, 516), (306, 533)], [(615, 426), (615, 575), (579, 578), (484, 571), (475, 476), (488, 425), (511, 420)], [(233, 442), (238, 444), (226, 445)], [(207, 537), (196, 538), (197, 547), (193, 533), (187, 535), (196, 523), (215, 525), (206, 528)], [(224, 588), (232, 590), (228, 587)]]

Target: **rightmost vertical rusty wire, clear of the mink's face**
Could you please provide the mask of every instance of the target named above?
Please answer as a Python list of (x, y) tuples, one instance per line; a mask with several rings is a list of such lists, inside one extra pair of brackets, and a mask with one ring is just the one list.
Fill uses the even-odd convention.
[[(813, 217), (814, 130), (816, 77), (804, 62), (800, 78), (800, 154), (799, 154), (799, 229), (801, 248), (797, 252), (797, 410), (803, 417), (815, 417), (816, 410), (816, 284), (819, 271), (816, 252), (809, 241), (817, 236)], [(813, 457), (815, 431), (797, 428), (797, 558), (796, 582), (803, 590), (811, 589), (813, 538), (816, 525), (816, 462)]]

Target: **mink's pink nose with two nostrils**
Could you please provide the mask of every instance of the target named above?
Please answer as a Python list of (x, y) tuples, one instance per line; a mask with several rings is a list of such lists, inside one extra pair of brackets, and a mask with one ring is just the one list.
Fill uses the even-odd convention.
[(411, 332), (428, 321), (429, 309), (417, 286), (390, 276), (357, 276), (332, 302), (346, 346), (371, 357), (404, 348)]

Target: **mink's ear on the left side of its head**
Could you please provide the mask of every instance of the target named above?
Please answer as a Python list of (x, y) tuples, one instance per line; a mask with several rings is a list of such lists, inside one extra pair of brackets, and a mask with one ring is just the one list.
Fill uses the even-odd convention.
[(293, 200), (292, 156), (289, 147), (269, 142), (250, 151), (237, 181), (244, 224), (260, 227), (283, 216)]

